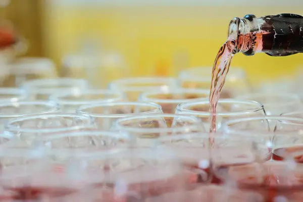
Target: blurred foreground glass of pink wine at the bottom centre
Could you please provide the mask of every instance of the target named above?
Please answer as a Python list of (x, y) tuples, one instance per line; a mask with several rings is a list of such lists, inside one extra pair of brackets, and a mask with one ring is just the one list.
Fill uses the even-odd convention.
[[(82, 170), (94, 180), (92, 189), (83, 191), (86, 201), (148, 201), (186, 188), (182, 166), (164, 148), (110, 151), (86, 156), (82, 162)], [(183, 194), (180, 197), (178, 201), (186, 201)]]

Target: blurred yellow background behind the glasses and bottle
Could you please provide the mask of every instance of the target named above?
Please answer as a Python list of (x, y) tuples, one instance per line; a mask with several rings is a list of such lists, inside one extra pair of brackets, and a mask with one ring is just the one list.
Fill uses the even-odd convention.
[[(12, 3), (10, 7), (19, 10), (20, 5), (31, 4), (27, 6), (32, 12), (25, 12), (28, 16), (22, 17), (31, 27), (19, 25), (25, 37), (30, 35), (26, 30), (34, 29), (35, 34), (27, 38), (28, 55), (49, 57), (60, 69), (64, 56), (80, 53), (85, 42), (89, 42), (97, 50), (121, 54), (124, 68), (127, 67), (124, 70), (129, 70), (130, 76), (176, 76), (179, 70), (188, 67), (212, 66), (233, 17), (303, 15), (303, 1), (296, 0), (13, 0)], [(284, 58), (238, 54), (232, 66), (244, 68), (249, 80), (257, 85), (268, 79), (292, 76), (303, 64), (302, 59), (301, 54)], [(104, 74), (100, 69), (94, 76), (105, 85), (111, 79), (128, 75), (124, 70), (112, 68)]]

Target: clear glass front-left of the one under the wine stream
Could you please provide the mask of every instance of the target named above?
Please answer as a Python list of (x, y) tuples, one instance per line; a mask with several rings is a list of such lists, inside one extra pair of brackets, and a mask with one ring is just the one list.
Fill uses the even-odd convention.
[(193, 116), (174, 114), (139, 115), (118, 119), (112, 130), (134, 136), (137, 146), (155, 146), (163, 136), (205, 132), (201, 121)]

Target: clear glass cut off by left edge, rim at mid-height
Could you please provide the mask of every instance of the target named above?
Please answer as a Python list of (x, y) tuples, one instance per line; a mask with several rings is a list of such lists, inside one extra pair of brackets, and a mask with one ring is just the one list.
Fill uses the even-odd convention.
[(11, 119), (33, 114), (46, 114), (59, 111), (58, 104), (44, 101), (16, 101), (0, 104), (0, 131)]

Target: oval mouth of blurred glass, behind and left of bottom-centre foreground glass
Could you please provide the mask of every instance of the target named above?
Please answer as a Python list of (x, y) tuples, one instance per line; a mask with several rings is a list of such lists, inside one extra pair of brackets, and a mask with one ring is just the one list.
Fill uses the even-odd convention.
[(34, 145), (44, 150), (65, 152), (90, 152), (102, 149), (127, 148), (133, 144), (133, 138), (127, 133), (89, 130), (79, 132), (62, 132), (37, 137)]

